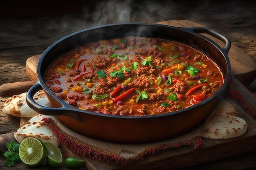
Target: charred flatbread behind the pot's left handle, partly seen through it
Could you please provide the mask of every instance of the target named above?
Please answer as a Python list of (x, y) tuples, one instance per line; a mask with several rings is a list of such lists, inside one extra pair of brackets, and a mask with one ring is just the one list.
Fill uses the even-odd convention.
[[(34, 117), (38, 115), (36, 111), (27, 105), (26, 95), (27, 92), (9, 97), (4, 103), (2, 111), (17, 117)], [(33, 98), (41, 106), (50, 106), (49, 100), (43, 90), (38, 91)]]

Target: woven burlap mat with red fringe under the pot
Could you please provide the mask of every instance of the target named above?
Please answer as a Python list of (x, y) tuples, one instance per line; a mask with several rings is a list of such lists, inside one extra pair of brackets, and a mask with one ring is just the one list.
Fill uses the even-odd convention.
[[(232, 105), (235, 106), (238, 103), (249, 115), (255, 117), (256, 108), (236, 89), (231, 77), (225, 97)], [(149, 144), (113, 144), (80, 135), (64, 126), (57, 117), (46, 116), (42, 120), (58, 136), (61, 145), (69, 148), (72, 152), (116, 165), (125, 165), (128, 161), (142, 161), (147, 155), (154, 155), (170, 148), (189, 147), (196, 150), (203, 144), (202, 126), (166, 141)]]

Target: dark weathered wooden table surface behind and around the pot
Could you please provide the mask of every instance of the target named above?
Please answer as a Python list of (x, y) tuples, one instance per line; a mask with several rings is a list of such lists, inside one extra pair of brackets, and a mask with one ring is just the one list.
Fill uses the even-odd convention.
[[(0, 2), (0, 85), (30, 80), (26, 60), (43, 53), (56, 40), (92, 26), (117, 22), (160, 22), (190, 20), (226, 35), (231, 42), (256, 62), (256, 2), (187, 2), (99, 0), (94, 3), (77, 1)], [(255, 72), (252, 81), (241, 82), (256, 96)], [(238, 77), (239, 78), (239, 77)], [(7, 97), (0, 97), (0, 135), (14, 132), (19, 117), (2, 113)], [(256, 139), (255, 139), (256, 142)], [(2, 148), (0, 149), (2, 151)], [(0, 152), (2, 155), (2, 152)], [(256, 152), (183, 169), (244, 169), (256, 168)], [(4, 158), (0, 156), (0, 169)]]

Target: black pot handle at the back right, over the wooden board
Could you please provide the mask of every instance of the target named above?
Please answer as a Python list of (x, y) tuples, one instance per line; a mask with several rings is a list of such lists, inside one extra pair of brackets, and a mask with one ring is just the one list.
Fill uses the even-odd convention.
[(206, 27), (193, 27), (193, 28), (188, 28), (188, 29), (189, 29), (189, 31), (193, 31), (195, 33), (207, 33), (215, 38), (218, 38), (218, 40), (225, 43), (223, 50), (225, 50), (226, 53), (229, 52), (229, 49), (231, 47), (231, 41), (225, 35), (222, 35), (221, 33), (218, 33), (217, 31), (210, 29), (210, 28), (206, 28)]

